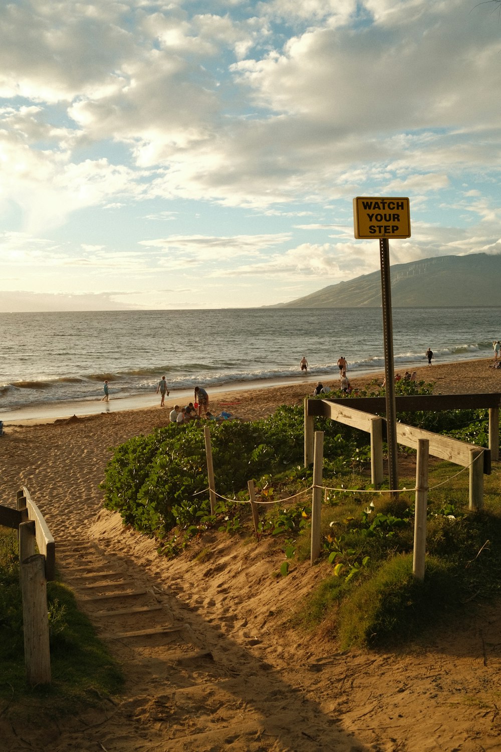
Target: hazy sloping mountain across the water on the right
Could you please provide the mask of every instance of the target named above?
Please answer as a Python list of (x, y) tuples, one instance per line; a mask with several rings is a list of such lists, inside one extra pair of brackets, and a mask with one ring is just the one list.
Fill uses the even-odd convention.
[[(391, 305), (451, 308), (501, 305), (501, 255), (436, 256), (391, 267)], [(303, 298), (267, 308), (379, 308), (381, 271), (331, 284)]]

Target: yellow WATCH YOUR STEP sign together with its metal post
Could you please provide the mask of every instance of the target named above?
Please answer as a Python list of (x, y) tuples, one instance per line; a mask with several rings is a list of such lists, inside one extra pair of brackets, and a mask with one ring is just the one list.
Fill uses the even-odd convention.
[(388, 238), (410, 238), (409, 199), (357, 196), (353, 199), (355, 238), (379, 238), (383, 341), (385, 348), (386, 429), (390, 490), (398, 489), (397, 410), (393, 362), (393, 323), (391, 320), (390, 251)]

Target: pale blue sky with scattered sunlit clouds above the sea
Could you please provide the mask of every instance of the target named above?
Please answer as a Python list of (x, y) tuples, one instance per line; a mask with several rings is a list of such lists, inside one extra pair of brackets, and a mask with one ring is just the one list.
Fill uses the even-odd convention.
[(0, 311), (275, 305), (501, 253), (501, 17), (475, 0), (0, 8)]

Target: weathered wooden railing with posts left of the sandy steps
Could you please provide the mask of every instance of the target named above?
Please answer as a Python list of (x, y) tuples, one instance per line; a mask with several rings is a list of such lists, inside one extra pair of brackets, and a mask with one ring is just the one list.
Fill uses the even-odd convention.
[(0, 505), (0, 525), (18, 531), (26, 678), (32, 686), (50, 684), (47, 580), (54, 578), (56, 545), (25, 486), (16, 501), (17, 509)]

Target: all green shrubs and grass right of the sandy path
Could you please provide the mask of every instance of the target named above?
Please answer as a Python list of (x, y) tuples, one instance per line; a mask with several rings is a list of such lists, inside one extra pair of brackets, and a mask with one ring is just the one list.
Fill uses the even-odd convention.
[[(427, 394), (433, 384), (404, 382), (397, 393)], [(361, 396), (382, 396), (376, 382)], [(333, 396), (341, 396), (333, 393)], [(350, 399), (349, 397), (346, 399)], [(398, 414), (409, 425), (487, 446), (487, 411)], [(412, 576), (414, 494), (397, 499), (370, 484), (369, 437), (334, 421), (324, 432), (321, 561), (330, 574), (295, 617), (304, 629), (327, 629), (351, 644), (384, 646), (417, 634), (481, 597), (501, 595), (499, 472), (485, 478), (484, 511), (468, 508), (468, 473), (433, 462), (427, 518), (427, 575)], [(105, 505), (125, 523), (155, 536), (175, 556), (204, 532), (252, 535), (247, 481), (258, 502), (258, 537), (284, 556), (279, 572), (310, 556), (312, 468), (303, 467), (303, 406), (282, 405), (263, 420), (211, 426), (217, 502), (210, 511), (202, 427), (166, 426), (117, 447), (104, 480)], [(409, 458), (413, 450), (403, 450)], [(402, 478), (412, 489), (414, 478)], [(432, 592), (433, 591), (433, 592)]]

